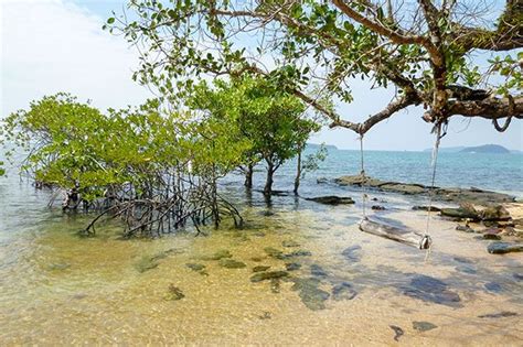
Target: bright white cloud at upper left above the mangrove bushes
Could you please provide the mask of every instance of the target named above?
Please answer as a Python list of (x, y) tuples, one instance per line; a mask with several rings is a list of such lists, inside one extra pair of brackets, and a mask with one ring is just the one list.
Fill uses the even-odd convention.
[(0, 11), (0, 118), (57, 91), (92, 99), (102, 109), (151, 96), (131, 80), (136, 51), (103, 31), (102, 18), (58, 0), (2, 1)]

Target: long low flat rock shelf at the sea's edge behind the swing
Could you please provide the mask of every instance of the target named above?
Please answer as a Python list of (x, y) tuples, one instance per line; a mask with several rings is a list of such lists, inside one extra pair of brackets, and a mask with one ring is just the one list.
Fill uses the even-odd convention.
[[(334, 182), (339, 185), (365, 185), (382, 192), (393, 192), (406, 195), (423, 195), (428, 194), (431, 191), (429, 186), (423, 184), (382, 181), (362, 175), (341, 176), (335, 178)], [(513, 203), (515, 200), (514, 196), (508, 194), (482, 191), (473, 187), (469, 189), (435, 187), (434, 197), (445, 202), (470, 202), (478, 205)]]

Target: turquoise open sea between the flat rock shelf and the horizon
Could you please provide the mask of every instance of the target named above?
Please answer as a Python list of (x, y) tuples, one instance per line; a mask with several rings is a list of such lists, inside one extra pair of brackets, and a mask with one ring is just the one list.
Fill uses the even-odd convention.
[[(317, 177), (335, 178), (360, 173), (359, 151), (329, 150), (320, 169), (306, 175), (302, 192), (318, 189)], [(429, 185), (431, 177), (430, 152), (365, 151), (365, 172), (381, 180)], [(278, 189), (290, 189), (295, 163), (289, 162), (277, 173)], [(264, 173), (258, 173), (264, 175)], [(258, 181), (263, 181), (258, 177)], [(522, 154), (439, 153), (436, 185), (441, 187), (479, 187), (523, 197)], [(323, 187), (321, 188), (323, 189)]]

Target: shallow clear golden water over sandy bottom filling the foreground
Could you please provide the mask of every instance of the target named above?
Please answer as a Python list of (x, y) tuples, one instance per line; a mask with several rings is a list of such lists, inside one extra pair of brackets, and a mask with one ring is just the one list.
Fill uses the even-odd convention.
[[(277, 196), (267, 207), (260, 194), (247, 196), (236, 184), (241, 177), (232, 176), (223, 189), (242, 206), (244, 230), (224, 225), (206, 237), (188, 230), (127, 241), (118, 239), (118, 225), (78, 238), (87, 216), (50, 210), (45, 192), (13, 176), (0, 178), (0, 344), (366, 346), (395, 344), (391, 326), (396, 326), (406, 345), (521, 345), (521, 253), (488, 254), (488, 241), (435, 217), (435, 246), (426, 263), (423, 251), (360, 232), (357, 191), (313, 184), (328, 174), (338, 172), (310, 175), (302, 194), (342, 193), (356, 205)], [(279, 187), (288, 188), (285, 180), (291, 182), (280, 176)], [(384, 217), (424, 229), (426, 215), (409, 210), (414, 202), (392, 194), (371, 197), (389, 208)], [(274, 258), (268, 247), (284, 256), (301, 252)], [(221, 250), (246, 267), (227, 269), (209, 260)], [(151, 258), (156, 267), (140, 272)], [(277, 271), (290, 262), (300, 269), (288, 279), (250, 281), (254, 267)], [(188, 263), (205, 269), (194, 271)], [(306, 290), (300, 283), (308, 283)], [(169, 300), (172, 286), (184, 297)], [(506, 316), (489, 316), (502, 312)], [(420, 332), (414, 322), (437, 327)]]

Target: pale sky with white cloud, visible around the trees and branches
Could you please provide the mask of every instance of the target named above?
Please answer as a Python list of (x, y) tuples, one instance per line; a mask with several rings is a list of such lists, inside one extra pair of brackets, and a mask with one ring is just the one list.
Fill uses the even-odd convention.
[[(4, 0), (1, 2), (1, 115), (24, 108), (33, 99), (71, 91), (103, 109), (138, 105), (150, 97), (130, 76), (137, 53), (121, 37), (102, 31), (110, 11), (121, 11), (122, 1)], [(387, 90), (370, 90), (355, 82), (354, 102), (339, 105), (339, 112), (362, 120), (380, 111), (389, 100)], [(412, 108), (373, 128), (366, 135), (370, 150), (424, 150), (431, 148), (430, 126), (420, 120), (421, 109)], [(357, 149), (350, 130), (324, 129), (312, 142)], [(502, 144), (523, 150), (523, 126), (513, 120), (498, 133), (490, 121), (455, 117), (442, 147)]]

